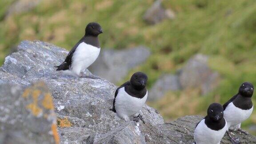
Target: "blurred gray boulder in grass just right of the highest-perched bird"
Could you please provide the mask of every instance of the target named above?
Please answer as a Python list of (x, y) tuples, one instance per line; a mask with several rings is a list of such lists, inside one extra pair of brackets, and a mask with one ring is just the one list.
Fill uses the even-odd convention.
[(89, 70), (94, 75), (117, 83), (127, 76), (131, 68), (143, 63), (149, 55), (148, 48), (142, 46), (125, 50), (102, 49), (100, 56), (89, 67)]

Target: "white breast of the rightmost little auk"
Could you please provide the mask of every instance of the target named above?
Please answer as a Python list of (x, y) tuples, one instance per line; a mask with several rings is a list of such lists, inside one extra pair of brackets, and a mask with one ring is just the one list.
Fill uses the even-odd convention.
[(248, 119), (252, 114), (253, 106), (251, 109), (243, 110), (237, 108), (233, 102), (229, 103), (226, 109), (224, 110), (224, 118), (228, 122), (228, 127), (235, 126), (240, 124), (244, 120)]

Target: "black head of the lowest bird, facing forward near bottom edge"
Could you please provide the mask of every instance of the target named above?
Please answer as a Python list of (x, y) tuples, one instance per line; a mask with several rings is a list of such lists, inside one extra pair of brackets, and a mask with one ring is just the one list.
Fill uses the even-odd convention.
[(207, 110), (207, 116), (212, 121), (219, 121), (223, 118), (223, 107), (222, 105), (218, 103), (212, 103), (208, 110)]

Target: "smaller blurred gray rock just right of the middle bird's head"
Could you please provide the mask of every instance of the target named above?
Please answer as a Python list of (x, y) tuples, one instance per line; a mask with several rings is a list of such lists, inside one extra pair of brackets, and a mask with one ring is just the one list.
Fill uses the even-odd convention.
[(158, 100), (163, 97), (166, 92), (180, 89), (179, 76), (172, 74), (162, 75), (148, 92), (148, 100)]

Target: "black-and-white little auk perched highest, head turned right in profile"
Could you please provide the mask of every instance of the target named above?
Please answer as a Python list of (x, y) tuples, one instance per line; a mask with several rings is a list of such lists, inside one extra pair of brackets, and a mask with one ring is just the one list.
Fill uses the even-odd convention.
[(85, 28), (85, 35), (76, 43), (62, 64), (57, 66), (57, 71), (63, 71), (66, 75), (77, 77), (84, 76), (84, 70), (88, 68), (100, 54), (100, 42), (98, 35), (103, 33), (100, 24), (92, 22)]

